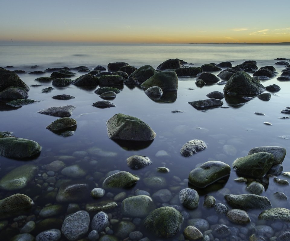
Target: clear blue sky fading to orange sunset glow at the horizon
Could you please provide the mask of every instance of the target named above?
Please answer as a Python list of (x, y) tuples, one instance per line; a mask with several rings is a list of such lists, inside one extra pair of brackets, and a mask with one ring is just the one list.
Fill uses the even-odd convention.
[(1, 0), (0, 43), (290, 42), (289, 0)]

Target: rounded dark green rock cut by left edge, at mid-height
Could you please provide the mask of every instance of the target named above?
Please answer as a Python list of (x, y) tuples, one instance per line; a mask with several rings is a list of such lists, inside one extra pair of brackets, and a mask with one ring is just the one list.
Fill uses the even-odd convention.
[(8, 158), (32, 158), (42, 147), (35, 141), (16, 137), (0, 138), (0, 156)]

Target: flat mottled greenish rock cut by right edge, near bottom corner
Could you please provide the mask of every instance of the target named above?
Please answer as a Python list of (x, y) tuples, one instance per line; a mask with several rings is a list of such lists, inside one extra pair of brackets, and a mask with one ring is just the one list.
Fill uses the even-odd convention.
[(287, 208), (269, 208), (259, 214), (259, 219), (290, 222), (290, 210)]

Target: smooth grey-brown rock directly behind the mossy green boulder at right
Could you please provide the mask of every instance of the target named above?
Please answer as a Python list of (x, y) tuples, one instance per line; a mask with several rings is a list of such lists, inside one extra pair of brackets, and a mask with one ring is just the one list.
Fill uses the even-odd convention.
[(252, 155), (257, 152), (268, 152), (273, 155), (274, 162), (273, 165), (275, 164), (282, 164), (284, 161), (285, 155), (286, 155), (286, 149), (282, 146), (259, 146), (250, 149), (248, 155)]

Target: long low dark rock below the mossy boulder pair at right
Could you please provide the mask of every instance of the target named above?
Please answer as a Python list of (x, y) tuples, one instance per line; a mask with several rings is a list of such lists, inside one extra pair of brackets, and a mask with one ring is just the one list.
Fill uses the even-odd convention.
[(265, 209), (271, 208), (271, 202), (267, 197), (256, 194), (227, 194), (224, 196), (227, 203), (234, 208), (241, 209)]

